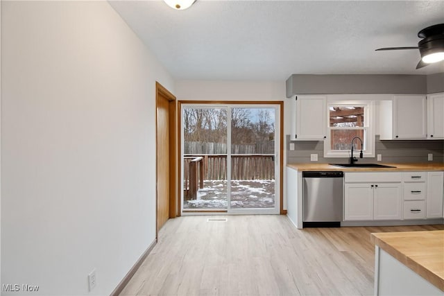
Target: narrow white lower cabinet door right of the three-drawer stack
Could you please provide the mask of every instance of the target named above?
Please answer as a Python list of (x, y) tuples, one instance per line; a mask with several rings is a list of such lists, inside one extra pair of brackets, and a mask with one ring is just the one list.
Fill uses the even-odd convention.
[(427, 218), (443, 216), (444, 173), (427, 173)]

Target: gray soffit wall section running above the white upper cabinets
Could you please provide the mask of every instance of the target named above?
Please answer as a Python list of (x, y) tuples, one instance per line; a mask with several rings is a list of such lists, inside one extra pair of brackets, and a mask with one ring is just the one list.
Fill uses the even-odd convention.
[(441, 73), (435, 75), (428, 83), (426, 75), (293, 74), (286, 82), (287, 98), (295, 94), (431, 94), (428, 85), (439, 89), (442, 77)]

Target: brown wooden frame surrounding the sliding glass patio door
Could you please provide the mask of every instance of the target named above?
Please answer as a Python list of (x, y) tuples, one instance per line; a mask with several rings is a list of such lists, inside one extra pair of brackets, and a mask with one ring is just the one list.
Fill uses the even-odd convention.
[[(279, 209), (279, 213), (281, 215), (287, 215), (287, 210), (284, 209), (284, 102), (283, 101), (178, 101), (178, 110), (179, 112), (177, 112), (177, 124), (178, 124), (178, 133), (177, 133), (177, 140), (176, 143), (180, 143), (180, 145), (178, 145), (178, 159), (180, 159), (181, 157), (181, 153), (182, 153), (182, 126), (180, 125), (180, 121), (182, 120), (182, 104), (220, 104), (220, 105), (279, 105), (280, 106), (280, 141), (279, 141), (279, 195), (280, 195), (280, 209)], [(178, 162), (178, 173), (181, 172), (182, 170), (182, 164), (181, 162)], [(180, 174), (180, 177), (178, 177), (180, 180), (180, 182), (182, 182), (182, 180), (180, 178), (182, 174)], [(180, 209), (180, 202), (182, 202), (182, 200), (180, 200), (182, 194), (180, 194), (180, 192), (177, 195), (177, 205), (178, 205), (178, 216), (180, 216), (181, 214), (181, 209)], [(203, 210), (203, 211), (196, 211), (196, 213), (205, 213), (207, 211)], [(217, 213), (217, 212), (227, 212), (227, 211), (210, 211), (210, 213)]]

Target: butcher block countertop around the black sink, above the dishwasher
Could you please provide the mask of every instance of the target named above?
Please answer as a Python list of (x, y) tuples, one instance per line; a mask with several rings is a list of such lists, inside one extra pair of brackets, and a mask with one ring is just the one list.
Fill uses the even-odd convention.
[(444, 171), (444, 164), (423, 163), (423, 164), (385, 164), (395, 166), (395, 168), (341, 168), (331, 164), (287, 164), (289, 168), (298, 171), (343, 171), (343, 172), (409, 172), (409, 171)]

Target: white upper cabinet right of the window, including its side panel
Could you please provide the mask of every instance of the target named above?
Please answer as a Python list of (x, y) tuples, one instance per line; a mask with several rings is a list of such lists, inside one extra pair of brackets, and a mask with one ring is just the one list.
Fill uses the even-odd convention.
[(427, 138), (424, 95), (393, 96), (393, 101), (381, 101), (379, 105), (380, 139)]

